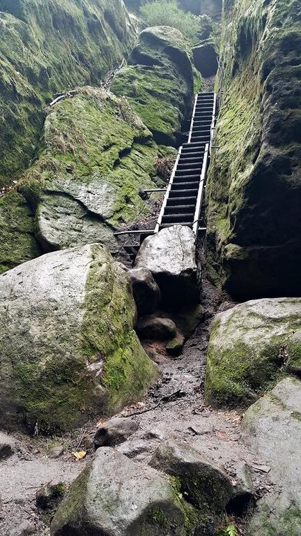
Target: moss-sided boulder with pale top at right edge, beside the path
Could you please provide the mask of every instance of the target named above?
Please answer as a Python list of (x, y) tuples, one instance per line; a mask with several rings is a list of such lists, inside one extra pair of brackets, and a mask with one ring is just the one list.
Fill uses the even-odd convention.
[(248, 405), (277, 378), (301, 365), (301, 299), (258, 299), (219, 313), (206, 370), (206, 401)]

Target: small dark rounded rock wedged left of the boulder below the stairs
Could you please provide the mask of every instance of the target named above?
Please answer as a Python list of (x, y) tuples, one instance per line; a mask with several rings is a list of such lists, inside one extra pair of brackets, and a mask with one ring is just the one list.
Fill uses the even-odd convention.
[(155, 311), (160, 303), (160, 288), (151, 271), (136, 268), (128, 271), (132, 282), (134, 301), (139, 315), (148, 315)]

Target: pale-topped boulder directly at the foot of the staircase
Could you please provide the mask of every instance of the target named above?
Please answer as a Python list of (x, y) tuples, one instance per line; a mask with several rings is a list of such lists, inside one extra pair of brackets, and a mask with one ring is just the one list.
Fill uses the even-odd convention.
[(162, 229), (144, 240), (136, 258), (137, 268), (147, 268), (168, 304), (198, 303), (200, 274), (196, 266), (194, 232), (183, 225)]

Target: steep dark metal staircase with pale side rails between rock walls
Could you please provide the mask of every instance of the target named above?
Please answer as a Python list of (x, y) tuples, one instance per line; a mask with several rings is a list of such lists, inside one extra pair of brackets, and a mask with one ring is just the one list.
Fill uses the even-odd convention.
[(214, 93), (196, 95), (188, 141), (178, 151), (155, 232), (180, 224), (197, 234), (215, 112)]

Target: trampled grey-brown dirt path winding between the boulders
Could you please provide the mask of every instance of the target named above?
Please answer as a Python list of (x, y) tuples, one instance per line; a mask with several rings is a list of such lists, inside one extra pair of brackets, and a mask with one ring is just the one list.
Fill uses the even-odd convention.
[[(236, 475), (245, 463), (252, 468), (261, 461), (252, 456), (240, 440), (242, 416), (237, 412), (206, 408), (203, 401), (210, 324), (216, 311), (232, 304), (224, 301), (206, 279), (203, 281), (202, 303), (205, 318), (185, 344), (183, 354), (176, 359), (161, 355), (162, 378), (146, 400), (125, 408), (120, 415), (153, 408), (162, 397), (174, 392), (179, 392), (180, 396), (164, 400), (157, 408), (132, 417), (139, 422), (139, 429), (117, 448), (133, 459), (147, 462), (160, 441), (167, 438), (181, 440), (194, 445), (208, 459), (222, 466), (236, 482)], [(1, 536), (49, 536), (51, 513), (43, 513), (36, 507), (36, 491), (49, 482), (70, 484), (77, 477), (93, 456), (91, 439), (95, 430), (96, 422), (93, 422), (64, 438), (16, 436), (15, 454), (0, 462)], [(72, 450), (84, 432), (81, 448), (87, 450), (87, 456), (84, 461), (77, 462)], [(50, 459), (49, 452), (58, 444), (64, 448), (64, 454), (59, 459)], [(265, 489), (265, 477), (256, 470), (252, 476), (260, 495)]]

